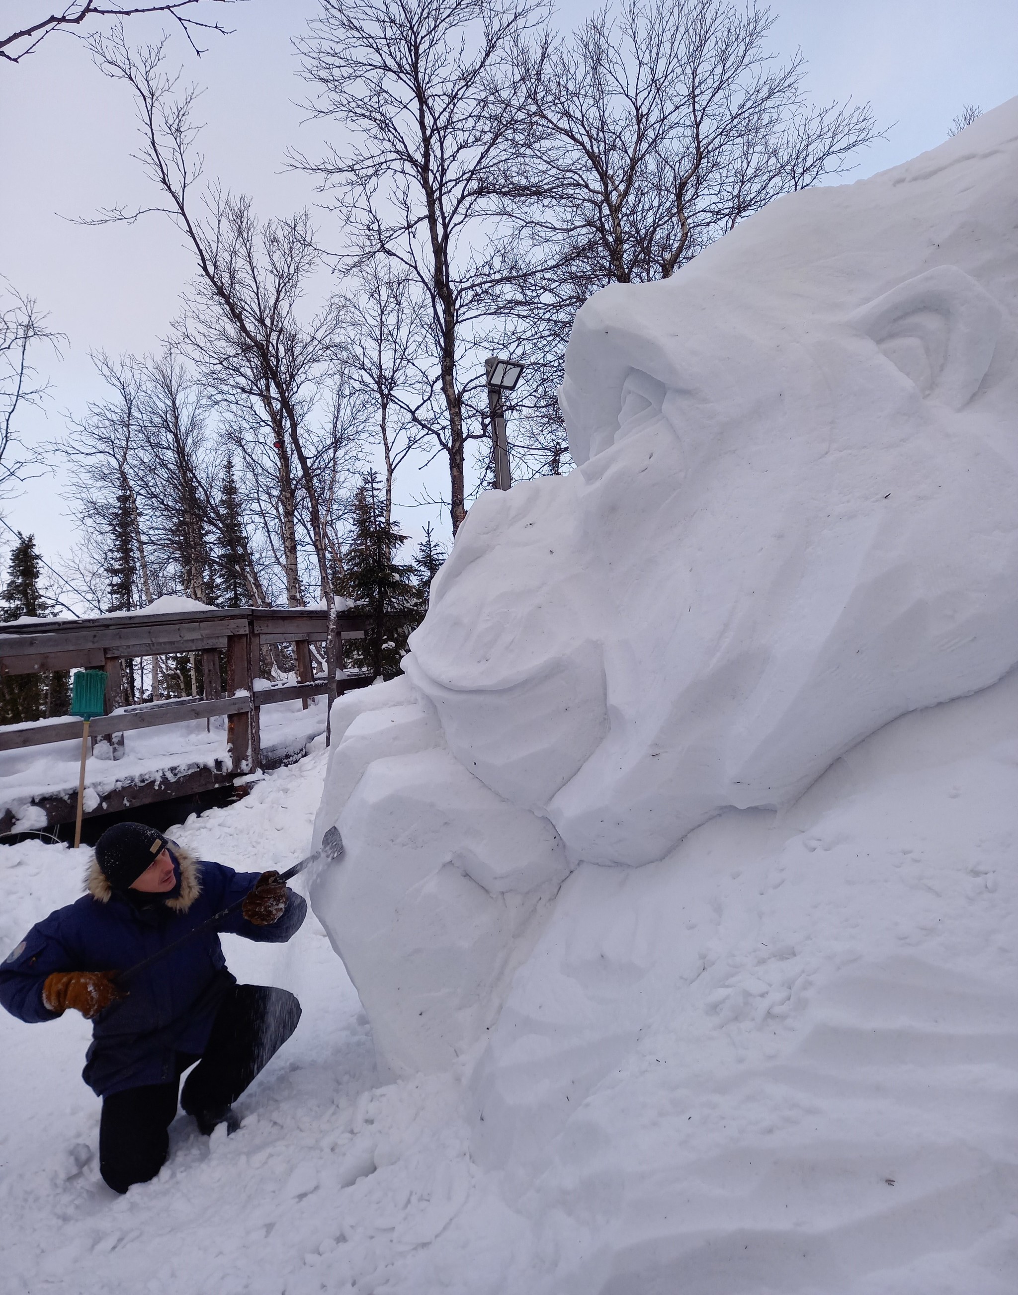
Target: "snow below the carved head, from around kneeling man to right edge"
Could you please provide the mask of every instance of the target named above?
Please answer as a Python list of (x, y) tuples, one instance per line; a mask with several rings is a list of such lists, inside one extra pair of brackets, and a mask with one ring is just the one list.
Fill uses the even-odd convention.
[[(284, 868), (324, 769), (177, 835)], [(582, 865), (477, 1071), (381, 1084), (313, 916), (278, 948), (228, 938), (241, 979), (300, 997), (298, 1032), (237, 1134), (179, 1116), (123, 1199), (88, 1026), (3, 1017), (0, 1291), (1013, 1295), (1015, 804), (1018, 676), (896, 720), (781, 817)], [(79, 894), (85, 853), (0, 850), (0, 943)]]

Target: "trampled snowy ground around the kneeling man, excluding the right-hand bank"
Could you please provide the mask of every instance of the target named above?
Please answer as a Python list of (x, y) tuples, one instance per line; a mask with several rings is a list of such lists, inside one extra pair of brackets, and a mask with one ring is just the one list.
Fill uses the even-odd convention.
[[(313, 754), (177, 837), (238, 869), (286, 868), (311, 840), (322, 772)], [(78, 897), (88, 853), (0, 847), (0, 944)], [(88, 1023), (0, 1017), (4, 1295), (444, 1289), (420, 1274), (475, 1176), (456, 1081), (377, 1087), (367, 1019), (312, 916), (286, 945), (224, 944), (240, 979), (291, 989), (303, 1018), (241, 1098), (241, 1129), (209, 1142), (180, 1115), (159, 1178), (123, 1199), (97, 1171), (100, 1102), (79, 1077)], [(512, 1241), (503, 1232), (486, 1252)], [(469, 1273), (455, 1276), (452, 1289), (474, 1289)]]

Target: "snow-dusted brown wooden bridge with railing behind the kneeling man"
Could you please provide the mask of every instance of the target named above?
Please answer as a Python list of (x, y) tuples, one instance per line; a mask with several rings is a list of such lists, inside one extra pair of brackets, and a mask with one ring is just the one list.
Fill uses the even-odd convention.
[[(370, 676), (342, 672), (342, 642), (364, 637), (364, 618), (341, 613), (339, 673), (337, 693), (369, 684)], [(140, 611), (93, 616), (82, 620), (35, 620), (0, 624), (0, 676), (28, 675), (58, 670), (98, 668), (106, 671), (105, 715), (91, 721), (96, 742), (109, 745), (106, 759), (123, 755), (123, 734), (185, 720), (227, 719), (225, 758), (198, 767), (159, 768), (150, 778), (124, 780), (97, 798), (89, 808), (85, 791), (84, 816), (114, 813), (154, 800), (193, 796), (232, 783), (241, 774), (263, 767), (260, 712), (278, 702), (308, 699), (329, 690), (328, 679), (312, 668), (311, 645), (322, 644), (328, 633), (324, 609), (237, 607), (188, 611)], [(297, 662), (295, 684), (271, 684), (258, 677), (262, 648), (293, 644)], [(227, 686), (221, 688), (220, 653), (225, 653)], [(141, 657), (201, 654), (203, 695), (172, 698), (124, 706), (123, 662)], [(321, 651), (324, 659), (324, 648)], [(0, 751), (22, 750), (51, 742), (82, 738), (82, 720), (60, 716), (30, 724), (0, 726)], [(91, 765), (92, 761), (89, 761)], [(110, 781), (109, 778), (106, 781)], [(45, 813), (47, 826), (70, 822), (78, 808), (76, 782), (73, 789), (41, 789), (30, 798), (31, 805)], [(0, 835), (10, 833), (18, 815), (0, 812)]]

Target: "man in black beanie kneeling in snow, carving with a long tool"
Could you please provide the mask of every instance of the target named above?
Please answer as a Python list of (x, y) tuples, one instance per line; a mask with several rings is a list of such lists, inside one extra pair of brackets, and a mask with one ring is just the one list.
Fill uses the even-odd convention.
[[(123, 1193), (166, 1160), (180, 1076), (194, 1062), (181, 1106), (202, 1133), (236, 1128), (232, 1102), (294, 1032), (300, 1004), (285, 989), (237, 984), (219, 934), (289, 940), (307, 905), (278, 873), (196, 860), (140, 822), (100, 837), (85, 888), (0, 966), (0, 1002), (30, 1023), (67, 1008), (95, 1022), (82, 1077), (102, 1098), (100, 1171)], [(241, 899), (237, 913), (118, 984), (113, 973)]]

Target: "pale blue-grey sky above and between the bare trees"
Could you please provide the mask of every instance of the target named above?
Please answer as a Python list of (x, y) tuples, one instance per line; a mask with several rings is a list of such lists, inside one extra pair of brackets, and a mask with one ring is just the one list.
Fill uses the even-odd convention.
[[(290, 44), (316, 8), (315, 0), (247, 0), (228, 13), (234, 34), (210, 38), (201, 60), (174, 38), (185, 75), (207, 87), (199, 111), (206, 174), (250, 193), (263, 215), (315, 201), (310, 183), (286, 170), (285, 153), (289, 145), (313, 153), (321, 137), (320, 126), (303, 122)], [(870, 100), (887, 130), (852, 179), (942, 142), (964, 104), (990, 109), (1018, 93), (1015, 0), (784, 0), (772, 8), (780, 14), (772, 47), (778, 54), (802, 48), (813, 100)], [(34, 13), (21, 0), (3, 10), (9, 26)], [(575, 0), (565, 5), (562, 27), (587, 12)], [(152, 39), (161, 27), (132, 19), (130, 30)], [(158, 344), (190, 267), (179, 236), (157, 216), (100, 229), (65, 219), (145, 197), (130, 157), (128, 96), (79, 41), (54, 36), (25, 63), (0, 65), (0, 273), (38, 298), (67, 335), (60, 363), (39, 356), (53, 390), (45, 421), (31, 418), (27, 433), (44, 439), (63, 431), (65, 411), (82, 413), (98, 394), (89, 348), (141, 354)], [(328, 215), (320, 227), (328, 243)], [(44, 479), (3, 505), (8, 523), (34, 531), (51, 559), (71, 536), (58, 492), (58, 482)], [(405, 521), (416, 531), (424, 518)]]

